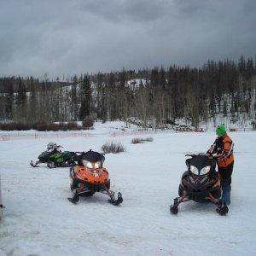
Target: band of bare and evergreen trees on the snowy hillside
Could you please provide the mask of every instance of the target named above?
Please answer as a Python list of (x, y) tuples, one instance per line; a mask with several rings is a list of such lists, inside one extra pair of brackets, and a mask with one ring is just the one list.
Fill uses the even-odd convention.
[[(207, 61), (202, 67), (75, 75), (67, 82), (0, 78), (0, 120), (27, 124), (137, 117), (158, 126), (187, 119), (195, 127), (218, 114), (255, 119), (256, 61)], [(134, 80), (137, 79), (137, 80)]]

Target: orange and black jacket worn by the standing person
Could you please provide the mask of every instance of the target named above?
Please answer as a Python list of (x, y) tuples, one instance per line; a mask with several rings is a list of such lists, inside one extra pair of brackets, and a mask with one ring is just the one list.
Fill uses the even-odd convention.
[(207, 151), (208, 154), (217, 154), (216, 160), (218, 167), (230, 166), (234, 161), (233, 154), (234, 143), (225, 133), (224, 136), (218, 137), (211, 148)]

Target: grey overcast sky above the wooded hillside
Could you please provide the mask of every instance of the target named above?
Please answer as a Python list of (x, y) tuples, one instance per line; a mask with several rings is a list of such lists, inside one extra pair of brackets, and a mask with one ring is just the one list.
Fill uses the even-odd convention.
[(0, 76), (197, 67), (255, 54), (255, 0), (0, 0)]

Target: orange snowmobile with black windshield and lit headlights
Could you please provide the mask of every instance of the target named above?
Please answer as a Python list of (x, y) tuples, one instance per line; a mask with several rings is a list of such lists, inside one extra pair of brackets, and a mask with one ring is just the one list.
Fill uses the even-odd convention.
[(91, 149), (80, 153), (78, 165), (70, 168), (70, 189), (73, 197), (67, 198), (68, 201), (77, 203), (80, 196), (91, 196), (95, 192), (108, 195), (110, 197), (108, 201), (115, 206), (123, 201), (120, 192), (116, 199), (114, 192), (110, 190), (108, 171), (103, 167), (104, 160), (104, 154)]

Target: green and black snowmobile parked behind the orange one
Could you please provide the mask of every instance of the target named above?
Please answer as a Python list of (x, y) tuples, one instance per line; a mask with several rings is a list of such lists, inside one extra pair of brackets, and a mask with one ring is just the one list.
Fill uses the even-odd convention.
[(31, 161), (30, 165), (38, 167), (39, 164), (46, 163), (49, 168), (74, 166), (78, 161), (76, 152), (61, 152), (60, 148), (62, 148), (62, 146), (57, 145), (56, 143), (48, 143), (47, 150), (39, 154), (36, 163)]

